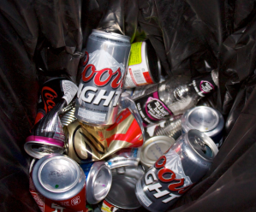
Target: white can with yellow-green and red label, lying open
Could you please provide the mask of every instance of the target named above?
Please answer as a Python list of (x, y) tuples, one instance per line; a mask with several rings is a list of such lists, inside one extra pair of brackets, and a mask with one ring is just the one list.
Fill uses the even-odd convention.
[(132, 44), (124, 88), (156, 84), (160, 74), (161, 64), (150, 41)]

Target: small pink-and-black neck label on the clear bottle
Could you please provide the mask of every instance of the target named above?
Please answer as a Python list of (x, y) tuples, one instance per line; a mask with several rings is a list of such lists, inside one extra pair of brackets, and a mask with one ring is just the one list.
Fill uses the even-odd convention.
[(193, 79), (193, 88), (200, 97), (205, 97), (206, 94), (214, 91), (215, 84), (211, 79), (211, 74), (205, 74)]

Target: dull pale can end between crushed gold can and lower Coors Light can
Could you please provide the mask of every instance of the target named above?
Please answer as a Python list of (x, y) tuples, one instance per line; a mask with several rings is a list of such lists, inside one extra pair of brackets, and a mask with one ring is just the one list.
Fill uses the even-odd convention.
[(140, 162), (151, 167), (175, 142), (174, 138), (168, 136), (154, 136), (147, 139), (141, 147)]

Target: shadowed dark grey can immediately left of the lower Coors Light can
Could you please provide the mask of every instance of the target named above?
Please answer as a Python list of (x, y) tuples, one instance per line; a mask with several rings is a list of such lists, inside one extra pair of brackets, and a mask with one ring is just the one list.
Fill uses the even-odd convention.
[(112, 169), (113, 181), (105, 201), (120, 209), (139, 209), (140, 202), (135, 196), (136, 182), (144, 171), (137, 168), (121, 167)]

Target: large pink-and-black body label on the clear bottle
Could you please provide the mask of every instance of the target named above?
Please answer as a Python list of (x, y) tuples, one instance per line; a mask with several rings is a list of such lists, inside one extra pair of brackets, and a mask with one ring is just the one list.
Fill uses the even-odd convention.
[(164, 120), (172, 112), (158, 97), (158, 85), (151, 86), (144, 92), (143, 97), (134, 100), (143, 120), (143, 126)]

